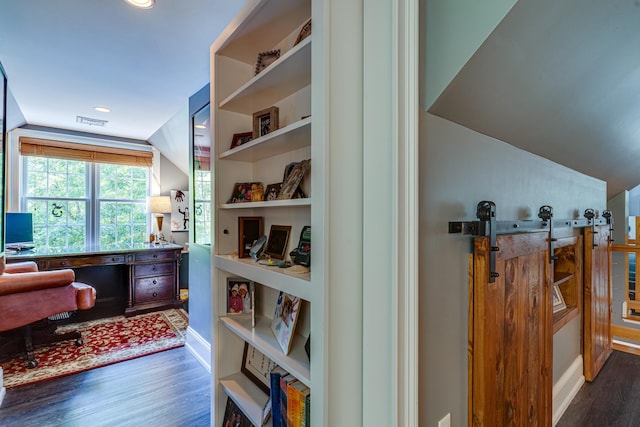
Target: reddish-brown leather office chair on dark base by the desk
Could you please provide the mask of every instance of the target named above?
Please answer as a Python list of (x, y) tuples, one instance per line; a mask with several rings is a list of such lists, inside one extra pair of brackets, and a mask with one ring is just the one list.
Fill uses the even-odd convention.
[(82, 345), (79, 332), (56, 334), (48, 318), (92, 308), (93, 287), (75, 282), (73, 270), (38, 271), (31, 261), (5, 266), (0, 258), (0, 271), (0, 359), (26, 353), (25, 365), (35, 368), (37, 346), (66, 340)]

